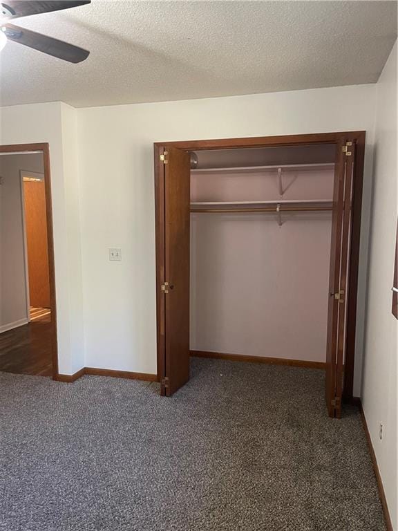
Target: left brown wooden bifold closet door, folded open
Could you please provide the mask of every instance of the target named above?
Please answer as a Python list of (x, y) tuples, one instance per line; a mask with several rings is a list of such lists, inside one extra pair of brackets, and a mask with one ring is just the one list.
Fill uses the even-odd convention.
[(164, 375), (170, 396), (189, 380), (189, 223), (191, 165), (187, 151), (165, 148)]

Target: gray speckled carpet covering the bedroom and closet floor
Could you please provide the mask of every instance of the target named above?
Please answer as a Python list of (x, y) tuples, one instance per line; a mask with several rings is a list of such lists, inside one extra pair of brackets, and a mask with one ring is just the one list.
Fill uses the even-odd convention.
[(357, 409), (323, 371), (192, 362), (158, 384), (0, 373), (4, 531), (381, 531)]

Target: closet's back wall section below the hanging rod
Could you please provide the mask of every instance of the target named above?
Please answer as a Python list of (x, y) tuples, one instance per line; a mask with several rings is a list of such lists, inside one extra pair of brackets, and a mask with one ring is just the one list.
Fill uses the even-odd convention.
[(191, 214), (191, 350), (326, 361), (332, 217), (283, 217)]

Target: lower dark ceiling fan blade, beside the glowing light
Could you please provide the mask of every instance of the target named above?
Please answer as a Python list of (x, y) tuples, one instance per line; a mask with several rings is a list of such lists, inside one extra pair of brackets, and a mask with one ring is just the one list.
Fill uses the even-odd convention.
[(53, 55), (53, 57), (64, 59), (64, 61), (70, 63), (82, 62), (84, 59), (87, 59), (90, 53), (83, 48), (73, 46), (73, 44), (68, 44), (67, 42), (53, 39), (53, 37), (26, 30), (25, 28), (19, 28), (19, 26), (14, 26), (13, 24), (4, 24), (1, 26), (1, 31), (10, 41), (19, 42), (23, 46), (35, 48), (39, 52)]

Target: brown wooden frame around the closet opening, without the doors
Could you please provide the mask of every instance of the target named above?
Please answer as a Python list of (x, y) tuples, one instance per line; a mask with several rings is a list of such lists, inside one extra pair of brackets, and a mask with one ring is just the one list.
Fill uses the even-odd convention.
[(156, 237), (156, 316), (157, 316), (157, 361), (158, 380), (166, 377), (164, 360), (164, 292), (162, 278), (164, 276), (164, 164), (162, 153), (167, 147), (182, 151), (202, 151), (209, 149), (244, 149), (249, 147), (289, 147), (300, 145), (334, 144), (339, 147), (341, 138), (354, 142), (356, 156), (352, 185), (352, 225), (350, 236), (350, 260), (348, 270), (348, 306), (347, 331), (345, 343), (345, 369), (343, 398), (345, 402), (354, 400), (354, 360), (355, 333), (357, 325), (357, 291), (359, 244), (361, 236), (361, 209), (363, 189), (363, 165), (365, 157), (366, 131), (340, 131), (337, 133), (312, 133), (288, 136), (263, 136), (252, 138), (222, 138), (214, 140), (182, 140), (176, 142), (155, 142), (155, 237)]

